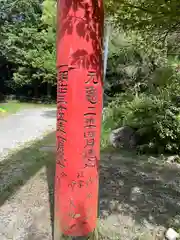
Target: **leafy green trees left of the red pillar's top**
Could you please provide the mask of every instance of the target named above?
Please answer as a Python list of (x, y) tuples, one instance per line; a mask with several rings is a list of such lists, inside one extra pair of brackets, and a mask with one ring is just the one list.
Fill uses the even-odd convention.
[(10, 87), (56, 84), (55, 3), (1, 1), (0, 56), (14, 66)]

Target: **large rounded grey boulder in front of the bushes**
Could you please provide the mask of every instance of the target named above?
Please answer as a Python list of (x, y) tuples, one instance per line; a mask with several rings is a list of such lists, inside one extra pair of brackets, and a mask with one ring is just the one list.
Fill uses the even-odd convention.
[(134, 148), (138, 143), (138, 135), (131, 127), (124, 126), (113, 130), (109, 141), (114, 148)]

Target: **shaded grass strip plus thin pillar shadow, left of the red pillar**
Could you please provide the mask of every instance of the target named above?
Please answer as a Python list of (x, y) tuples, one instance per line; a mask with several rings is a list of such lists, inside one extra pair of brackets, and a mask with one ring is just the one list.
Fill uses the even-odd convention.
[[(55, 173), (55, 152), (41, 150), (43, 146), (55, 144), (55, 133), (48, 134), (42, 140), (28, 144), (25, 148), (11, 153), (0, 162), (0, 206), (9, 200), (23, 185), (26, 184), (43, 167), (49, 189), (49, 206), (53, 230), (53, 183)], [(38, 194), (38, 193), (37, 193)], [(47, 209), (48, 211), (48, 209)], [(29, 236), (28, 239), (36, 239)], [(37, 238), (38, 239), (38, 238)], [(41, 238), (42, 239), (42, 238)]]

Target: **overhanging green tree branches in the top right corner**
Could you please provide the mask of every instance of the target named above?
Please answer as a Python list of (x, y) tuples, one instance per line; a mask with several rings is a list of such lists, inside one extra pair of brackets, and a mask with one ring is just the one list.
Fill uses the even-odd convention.
[(165, 37), (180, 26), (179, 0), (106, 0), (107, 14), (124, 29), (153, 31)]

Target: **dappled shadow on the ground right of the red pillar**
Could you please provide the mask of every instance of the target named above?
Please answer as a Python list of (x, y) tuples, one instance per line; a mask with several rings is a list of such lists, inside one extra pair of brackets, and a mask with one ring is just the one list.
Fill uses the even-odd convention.
[(127, 153), (102, 154), (100, 217), (132, 216), (165, 226), (180, 212), (180, 169), (162, 160)]

